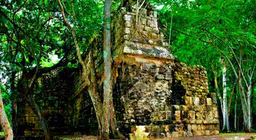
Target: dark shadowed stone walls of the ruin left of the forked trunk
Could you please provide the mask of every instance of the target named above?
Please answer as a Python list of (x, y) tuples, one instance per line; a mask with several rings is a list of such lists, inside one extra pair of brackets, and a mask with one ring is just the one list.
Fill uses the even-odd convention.
[[(79, 69), (60, 68), (43, 74), (38, 79), (38, 92), (33, 98), (46, 117), (50, 133), (95, 134), (97, 119), (90, 95), (80, 81)], [(39, 90), (40, 89), (40, 90)], [(21, 117), (20, 135), (43, 135), (38, 116), (28, 103), (18, 103)], [(23, 112), (23, 113), (22, 113)]]

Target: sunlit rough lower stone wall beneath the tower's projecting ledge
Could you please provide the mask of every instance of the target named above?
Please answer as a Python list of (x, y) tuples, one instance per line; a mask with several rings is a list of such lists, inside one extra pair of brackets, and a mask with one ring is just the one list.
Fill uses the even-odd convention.
[[(218, 134), (214, 93), (208, 91), (202, 66), (122, 62), (117, 75), (114, 103), (123, 131), (145, 126), (152, 136)], [(151, 129), (156, 126), (159, 134)]]

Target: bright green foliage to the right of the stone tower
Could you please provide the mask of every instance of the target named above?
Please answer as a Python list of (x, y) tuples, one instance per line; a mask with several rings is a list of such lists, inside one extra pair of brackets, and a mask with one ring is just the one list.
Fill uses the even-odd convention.
[[(171, 46), (174, 55), (189, 65), (200, 64), (208, 71), (210, 91), (214, 91), (214, 74), (217, 72), (218, 83), (222, 87), (222, 67), (220, 58), (228, 68), (228, 98), (236, 81), (234, 69), (242, 67), (245, 80), (250, 81), (256, 61), (256, 3), (255, 1), (215, 1), (215, 0), (151, 0), (159, 11), (160, 25), (166, 39), (171, 30)], [(172, 20), (171, 20), (172, 19)], [(172, 23), (171, 23), (172, 21)], [(170, 28), (172, 25), (172, 28)], [(238, 59), (241, 64), (238, 65)], [(228, 61), (230, 59), (230, 62)], [(255, 88), (255, 74), (252, 75), (252, 89)], [(246, 87), (245, 81), (242, 85)], [(235, 89), (238, 94), (239, 89)], [(252, 93), (255, 93), (252, 92)], [(231, 119), (235, 105), (235, 94), (231, 101)], [(252, 113), (256, 115), (255, 95), (252, 98)], [(238, 94), (238, 112), (242, 115)], [(242, 118), (242, 117), (240, 117)]]

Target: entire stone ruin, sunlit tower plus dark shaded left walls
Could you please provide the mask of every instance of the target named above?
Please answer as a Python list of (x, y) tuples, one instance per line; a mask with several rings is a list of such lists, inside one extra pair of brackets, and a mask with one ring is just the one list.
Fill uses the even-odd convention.
[[(137, 12), (137, 4), (124, 1), (114, 14), (112, 33), (113, 100), (122, 134), (146, 139), (219, 133), (206, 69), (178, 62), (149, 4)], [(97, 134), (92, 102), (80, 77), (79, 69), (55, 69), (41, 78), (41, 94), (34, 98), (43, 98), (39, 105), (52, 134)], [(19, 133), (43, 134), (28, 105), (20, 102), (18, 107), (25, 112)]]

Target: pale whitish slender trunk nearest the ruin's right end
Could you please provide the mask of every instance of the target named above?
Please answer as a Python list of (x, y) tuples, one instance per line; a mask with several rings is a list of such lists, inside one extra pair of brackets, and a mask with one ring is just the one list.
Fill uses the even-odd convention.
[[(223, 61), (222, 61), (223, 62)], [(223, 62), (223, 130), (230, 132), (229, 120), (228, 120), (228, 95), (227, 95), (227, 68), (225, 62)]]

